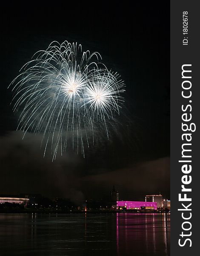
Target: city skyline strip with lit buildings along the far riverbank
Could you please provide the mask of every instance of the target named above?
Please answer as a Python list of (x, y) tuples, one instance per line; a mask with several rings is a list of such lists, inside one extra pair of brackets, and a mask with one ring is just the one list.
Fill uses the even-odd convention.
[[(119, 192), (115, 189), (110, 191), (106, 198), (87, 198), (84, 201), (71, 200), (71, 198), (47, 198), (41, 194), (20, 194), (20, 195), (0, 195), (1, 209), (20, 209), (26, 207), (37, 208), (40, 211), (48, 209), (63, 210), (170, 210), (170, 200), (163, 198), (162, 194), (145, 195), (145, 201), (127, 201), (126, 198), (119, 198)], [(71, 206), (71, 208), (70, 208)], [(67, 207), (67, 208), (66, 208)], [(3, 211), (4, 211), (3, 210)]]

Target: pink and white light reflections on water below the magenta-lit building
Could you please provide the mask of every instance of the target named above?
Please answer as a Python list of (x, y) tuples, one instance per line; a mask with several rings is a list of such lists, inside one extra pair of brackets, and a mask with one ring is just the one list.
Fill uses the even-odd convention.
[(117, 213), (117, 255), (170, 255), (170, 215)]

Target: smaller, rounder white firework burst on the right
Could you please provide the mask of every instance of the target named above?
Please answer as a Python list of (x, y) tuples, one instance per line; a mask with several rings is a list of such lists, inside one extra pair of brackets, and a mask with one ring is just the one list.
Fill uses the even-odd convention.
[(86, 105), (91, 111), (93, 120), (101, 119), (106, 124), (106, 119), (119, 114), (120, 103), (123, 102), (124, 82), (118, 73), (107, 69), (91, 70), (86, 88)]

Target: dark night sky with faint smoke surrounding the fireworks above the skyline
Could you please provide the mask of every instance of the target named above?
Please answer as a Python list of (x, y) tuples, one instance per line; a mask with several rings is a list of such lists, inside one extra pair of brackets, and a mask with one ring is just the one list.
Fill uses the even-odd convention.
[[(43, 1), (45, 2), (45, 1)], [(85, 1), (41, 5), (9, 1), (1, 11), (0, 194), (41, 193), (80, 200), (109, 194), (169, 198), (169, 3)], [(118, 133), (101, 138), (86, 157), (43, 158), (40, 135), (16, 131), (11, 90), (20, 68), (51, 41), (77, 41), (98, 51), (126, 83)], [(112, 132), (111, 132), (112, 133)]]

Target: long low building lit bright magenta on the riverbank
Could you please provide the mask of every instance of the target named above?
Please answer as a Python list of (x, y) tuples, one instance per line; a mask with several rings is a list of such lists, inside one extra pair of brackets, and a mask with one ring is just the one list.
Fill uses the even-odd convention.
[(156, 202), (141, 202), (141, 201), (117, 201), (117, 209), (154, 209), (157, 210)]

